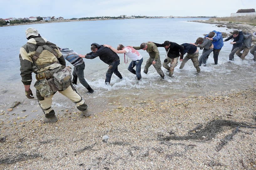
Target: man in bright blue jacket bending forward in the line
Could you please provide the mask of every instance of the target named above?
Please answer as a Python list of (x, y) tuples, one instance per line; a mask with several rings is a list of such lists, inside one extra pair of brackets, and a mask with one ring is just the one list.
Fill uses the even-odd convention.
[[(204, 38), (212, 40), (213, 44), (213, 59), (214, 63), (218, 64), (218, 56), (221, 51), (221, 48), (223, 47), (223, 38), (222, 38), (222, 33), (213, 30), (209, 34), (207, 34)], [(208, 56), (207, 56), (208, 58)]]

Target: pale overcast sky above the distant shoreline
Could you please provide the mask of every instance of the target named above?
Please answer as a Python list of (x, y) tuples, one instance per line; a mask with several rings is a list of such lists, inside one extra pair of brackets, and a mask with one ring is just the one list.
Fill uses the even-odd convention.
[(0, 0), (0, 18), (97, 16), (218, 16), (256, 8), (255, 0)]

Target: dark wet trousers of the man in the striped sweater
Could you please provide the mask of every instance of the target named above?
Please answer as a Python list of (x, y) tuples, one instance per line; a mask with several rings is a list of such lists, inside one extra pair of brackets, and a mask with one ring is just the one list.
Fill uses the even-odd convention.
[(86, 80), (84, 79), (84, 68), (85, 68), (85, 63), (75, 66), (74, 67), (74, 71), (72, 73), (73, 75), (73, 83), (76, 84), (77, 83), (77, 78), (79, 79), (80, 83), (86, 88), (88, 89), (89, 84), (86, 82)]

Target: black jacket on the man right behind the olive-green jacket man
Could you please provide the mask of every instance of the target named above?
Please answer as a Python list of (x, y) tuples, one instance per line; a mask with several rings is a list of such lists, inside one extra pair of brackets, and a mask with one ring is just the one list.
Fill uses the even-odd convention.
[[(165, 47), (164, 43), (163, 44), (158, 44), (155, 43), (154, 44), (157, 47)], [(180, 46), (179, 44), (175, 43), (175, 42), (170, 42), (170, 47), (169, 48), (165, 48), (167, 53), (167, 56), (170, 58), (176, 58), (180, 56), (180, 53), (183, 54), (184, 53), (184, 48), (182, 46)], [(183, 56), (182, 56), (183, 57)], [(183, 59), (183, 58), (180, 58)]]

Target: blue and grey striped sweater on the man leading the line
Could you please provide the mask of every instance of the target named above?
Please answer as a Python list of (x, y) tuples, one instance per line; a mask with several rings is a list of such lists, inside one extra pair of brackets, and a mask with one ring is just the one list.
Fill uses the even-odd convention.
[(62, 48), (60, 52), (62, 53), (63, 57), (73, 66), (79, 66), (84, 63), (83, 59), (80, 58), (75, 51), (69, 48)]

